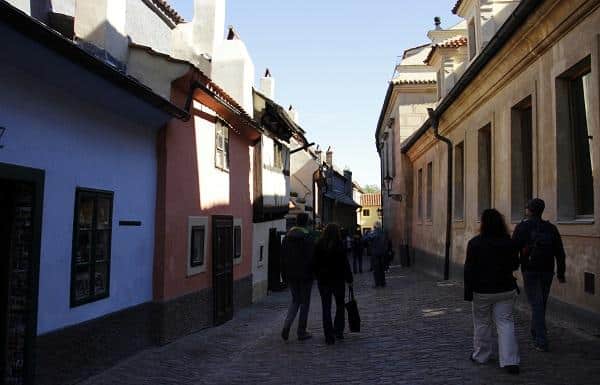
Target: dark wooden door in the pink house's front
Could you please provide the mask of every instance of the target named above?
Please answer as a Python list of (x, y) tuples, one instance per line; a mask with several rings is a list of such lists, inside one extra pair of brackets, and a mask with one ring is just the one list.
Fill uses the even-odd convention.
[(233, 217), (213, 217), (214, 322), (233, 318)]

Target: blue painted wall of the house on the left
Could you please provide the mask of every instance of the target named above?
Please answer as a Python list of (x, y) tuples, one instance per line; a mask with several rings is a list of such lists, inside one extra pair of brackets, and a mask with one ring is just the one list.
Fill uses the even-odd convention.
[[(156, 130), (2, 66), (0, 162), (46, 171), (38, 333), (152, 299)], [(71, 73), (73, 76), (76, 73)], [(79, 76), (79, 75), (77, 75)], [(110, 296), (70, 308), (76, 187), (114, 192)], [(119, 227), (139, 220), (141, 227)]]

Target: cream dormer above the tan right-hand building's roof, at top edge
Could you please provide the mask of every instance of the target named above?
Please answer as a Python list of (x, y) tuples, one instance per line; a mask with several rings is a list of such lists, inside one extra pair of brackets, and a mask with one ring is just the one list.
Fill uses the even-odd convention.
[(458, 0), (452, 13), (463, 18), (469, 39), (469, 62), (481, 52), (520, 0)]

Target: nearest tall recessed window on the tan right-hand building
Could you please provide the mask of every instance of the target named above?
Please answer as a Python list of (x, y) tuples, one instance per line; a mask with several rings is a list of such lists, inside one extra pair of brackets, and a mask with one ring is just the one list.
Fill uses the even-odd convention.
[(594, 215), (591, 59), (588, 56), (556, 79), (558, 216)]

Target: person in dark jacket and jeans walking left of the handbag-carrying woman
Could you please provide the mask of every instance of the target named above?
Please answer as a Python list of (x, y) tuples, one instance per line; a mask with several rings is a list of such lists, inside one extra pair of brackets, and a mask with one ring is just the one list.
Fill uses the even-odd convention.
[(286, 341), (298, 310), (300, 310), (298, 340), (303, 341), (312, 337), (307, 331), (307, 322), (314, 276), (314, 240), (307, 228), (306, 213), (298, 214), (296, 223), (297, 225), (288, 231), (282, 244), (282, 261), (292, 294), (292, 302), (281, 332), (281, 337)]

